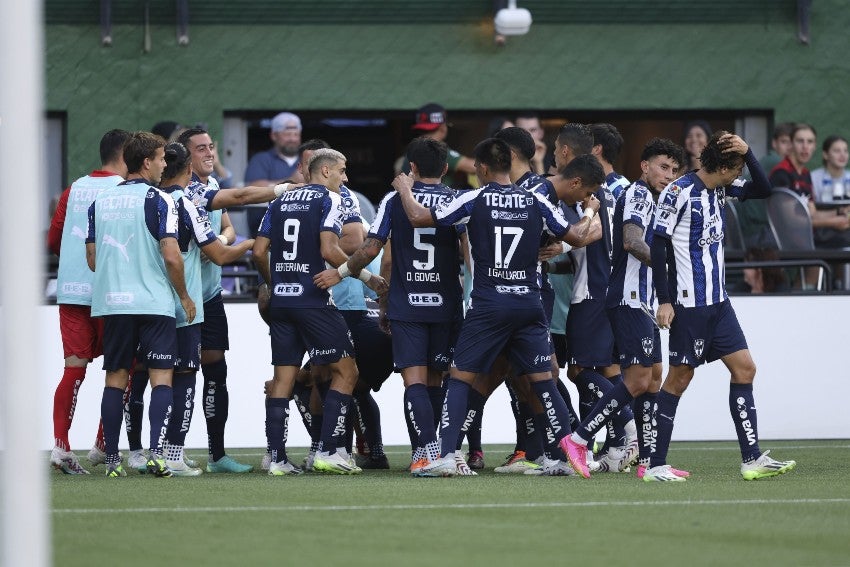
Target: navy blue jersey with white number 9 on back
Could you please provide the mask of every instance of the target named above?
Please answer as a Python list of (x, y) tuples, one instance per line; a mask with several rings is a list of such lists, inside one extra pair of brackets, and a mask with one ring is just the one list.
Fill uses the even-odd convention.
[(305, 185), (271, 202), (258, 235), (271, 240), (271, 307), (332, 305), (327, 290), (313, 284), (325, 269), (319, 234), (342, 232), (342, 199), (323, 185)]

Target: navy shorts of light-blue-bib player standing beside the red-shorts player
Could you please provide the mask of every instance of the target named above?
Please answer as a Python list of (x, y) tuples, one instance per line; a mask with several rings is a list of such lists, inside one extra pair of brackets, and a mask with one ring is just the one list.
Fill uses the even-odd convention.
[(177, 321), (164, 315), (106, 315), (103, 318), (103, 369), (173, 368), (177, 360)]

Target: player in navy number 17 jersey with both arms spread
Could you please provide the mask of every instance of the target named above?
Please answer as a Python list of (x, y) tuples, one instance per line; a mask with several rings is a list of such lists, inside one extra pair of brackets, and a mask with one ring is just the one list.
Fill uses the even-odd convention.
[[(399, 175), (393, 181), (414, 227), (466, 224), (474, 262), (470, 306), (446, 381), (440, 458), (423, 469), (441, 476), (456, 474), (452, 454), (466, 415), (470, 385), (477, 375), (490, 370), (504, 348), (514, 368), (529, 375), (557, 438), (569, 433), (569, 412), (550, 371), (538, 250), (544, 231), (571, 244), (582, 241), (599, 207), (590, 197), (585, 217), (570, 225), (549, 201), (511, 184), (511, 150), (502, 140), (490, 138), (479, 143), (475, 166), (481, 188), (431, 208), (413, 197), (412, 178)], [(598, 163), (596, 166), (597, 183), (601, 183), (601, 168)]]

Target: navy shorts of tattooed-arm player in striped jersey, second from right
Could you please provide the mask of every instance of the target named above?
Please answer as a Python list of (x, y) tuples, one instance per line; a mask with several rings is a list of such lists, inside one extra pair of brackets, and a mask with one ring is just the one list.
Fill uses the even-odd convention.
[(608, 309), (621, 368), (661, 363), (661, 333), (641, 309), (618, 305)]

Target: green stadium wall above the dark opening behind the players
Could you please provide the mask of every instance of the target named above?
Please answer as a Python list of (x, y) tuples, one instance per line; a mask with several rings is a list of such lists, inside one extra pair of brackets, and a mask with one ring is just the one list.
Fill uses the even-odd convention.
[[(811, 122), (821, 137), (850, 135), (850, 12), (842, 1), (814, 3), (809, 46), (797, 41), (788, 0), (584, 3), (598, 8), (590, 15), (579, 2), (518, 3), (538, 16), (528, 35), (500, 48), (489, 0), (191, 2), (190, 22), (202, 23), (191, 23), (191, 44), (179, 47), (173, 3), (154, 1), (144, 53), (140, 8), (135, 17), (116, 2), (121, 17), (105, 48), (96, 2), (49, 0), (46, 109), (66, 117), (70, 179), (97, 165), (93, 148), (110, 128), (195, 119), (217, 136), (225, 111), (412, 111), (432, 100), (450, 110), (593, 110), (600, 118), (606, 110), (752, 110)], [(286, 4), (306, 23), (280, 23)], [(352, 8), (367, 4), (395, 17), (370, 20)], [(265, 6), (270, 15), (233, 5)], [(429, 17), (417, 19), (417, 10)], [(447, 15), (454, 23), (442, 21)]]

